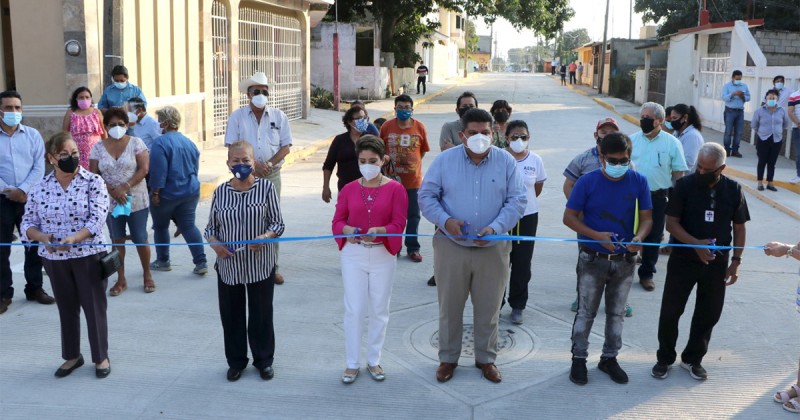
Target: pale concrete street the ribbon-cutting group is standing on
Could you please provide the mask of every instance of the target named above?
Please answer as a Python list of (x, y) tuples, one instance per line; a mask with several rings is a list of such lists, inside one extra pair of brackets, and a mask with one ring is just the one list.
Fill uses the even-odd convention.
[[(415, 116), (428, 127), (434, 149), (441, 125), (455, 119), (455, 99), (462, 90), (475, 92), (486, 109), (494, 99), (506, 99), (514, 107), (512, 118), (528, 121), (531, 148), (542, 156), (549, 175), (539, 198), (539, 234), (572, 237), (561, 223), (561, 172), (572, 156), (593, 144), (594, 124), (609, 111), (548, 77), (485, 75), (417, 107)], [(620, 124), (624, 132), (635, 131), (624, 121)], [(426, 156), (425, 164), (437, 152)], [(334, 206), (320, 198), (323, 158), (321, 151), (283, 173), (286, 236), (329, 232)], [(748, 199), (753, 216), (748, 244), (797, 239), (800, 222)], [(207, 215), (208, 203), (201, 203), (198, 225), (205, 224)], [(421, 232), (432, 231), (423, 221)], [(60, 364), (56, 308), (17, 298), (0, 317), (2, 417), (796, 418), (771, 401), (773, 392), (792, 382), (797, 368), (796, 262), (745, 252), (740, 281), (728, 289), (704, 362), (710, 379), (701, 383), (680, 368), (663, 381), (649, 375), (666, 267), (662, 259), (656, 291), (645, 292), (638, 284), (631, 291), (635, 314), (626, 320), (619, 357), (631, 382), (617, 385), (594, 366), (603, 340), (600, 315), (591, 339), (590, 382), (578, 387), (567, 378), (575, 245), (539, 242), (525, 324), (513, 326), (506, 320), (508, 309), (502, 313), (498, 365), (504, 381), (481, 379), (465, 356), (453, 380), (439, 384), (431, 344), (437, 328), (436, 292), (425, 285), (432, 273), (432, 250), (430, 240), (422, 244), (422, 263), (403, 257), (398, 264), (383, 383), (364, 372), (353, 385), (339, 382), (343, 305), (333, 241), (281, 246), (287, 281), (275, 293), (276, 374), (270, 382), (254, 369), (236, 383), (226, 381), (216, 279), (191, 274), (188, 250), (174, 248), (174, 270), (156, 274), (158, 290), (153, 294), (133, 286), (141, 271), (134, 257), (128, 258), (129, 289), (109, 298), (113, 372), (102, 381), (90, 366), (54, 379)], [(19, 250), (13, 259), (21, 262)], [(15, 278), (22, 282), (21, 275)], [(687, 311), (692, 307), (690, 303)], [(689, 326), (685, 318), (681, 345)], [(83, 351), (89, 354), (85, 337)]]

